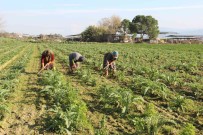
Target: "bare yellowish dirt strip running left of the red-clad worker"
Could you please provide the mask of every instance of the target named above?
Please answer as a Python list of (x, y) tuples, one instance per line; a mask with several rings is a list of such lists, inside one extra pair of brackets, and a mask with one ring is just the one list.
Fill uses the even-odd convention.
[(39, 52), (36, 46), (31, 54), (31, 59), (26, 65), (25, 72), (19, 77), (15, 93), (10, 98), (11, 113), (4, 119), (0, 134), (28, 135), (40, 134), (40, 107), (39, 90), (37, 85), (37, 71), (39, 66)]

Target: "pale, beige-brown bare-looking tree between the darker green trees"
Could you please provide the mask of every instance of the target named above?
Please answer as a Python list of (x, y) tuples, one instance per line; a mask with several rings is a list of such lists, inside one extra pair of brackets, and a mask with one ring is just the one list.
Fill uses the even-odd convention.
[(115, 34), (121, 26), (121, 18), (119, 16), (111, 16), (103, 18), (99, 21), (99, 27), (105, 30), (106, 34)]

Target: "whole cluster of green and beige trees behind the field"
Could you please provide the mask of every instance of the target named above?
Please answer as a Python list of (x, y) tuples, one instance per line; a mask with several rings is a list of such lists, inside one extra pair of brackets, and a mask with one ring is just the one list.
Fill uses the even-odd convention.
[(123, 19), (119, 16), (111, 16), (110, 18), (103, 18), (98, 25), (90, 25), (82, 33), (82, 40), (86, 42), (100, 42), (104, 35), (111, 35), (119, 33), (121, 37), (127, 34), (136, 37), (140, 34), (140, 40), (143, 41), (144, 35), (149, 39), (156, 39), (159, 34), (158, 21), (152, 16), (137, 15), (132, 21)]

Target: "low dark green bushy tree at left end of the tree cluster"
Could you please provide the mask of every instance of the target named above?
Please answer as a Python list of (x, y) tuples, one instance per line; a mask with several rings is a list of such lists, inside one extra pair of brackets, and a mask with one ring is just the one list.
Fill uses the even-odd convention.
[(82, 32), (82, 40), (88, 42), (98, 42), (104, 34), (102, 27), (89, 26), (85, 31)]

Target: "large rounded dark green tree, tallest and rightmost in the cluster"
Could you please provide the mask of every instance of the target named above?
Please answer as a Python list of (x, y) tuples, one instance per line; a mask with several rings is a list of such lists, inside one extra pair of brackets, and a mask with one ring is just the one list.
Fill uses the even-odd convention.
[(130, 31), (141, 34), (141, 40), (145, 34), (149, 36), (149, 39), (154, 39), (159, 34), (158, 21), (152, 16), (138, 15), (132, 20)]

